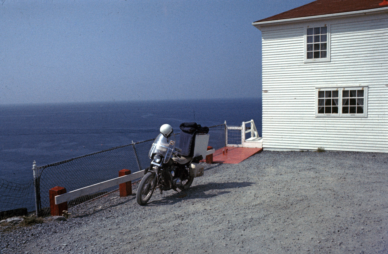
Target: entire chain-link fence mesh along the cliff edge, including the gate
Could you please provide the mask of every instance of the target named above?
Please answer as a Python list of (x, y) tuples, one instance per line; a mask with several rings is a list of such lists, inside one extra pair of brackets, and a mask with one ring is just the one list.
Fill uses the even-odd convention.
[[(209, 127), (209, 145), (215, 149), (225, 146), (225, 126)], [(179, 134), (176, 135), (179, 140)], [(149, 149), (154, 139), (122, 145), (92, 154), (36, 167), (37, 176), (27, 185), (12, 183), (0, 178), (0, 211), (26, 207), (29, 212), (37, 208), (39, 216), (50, 214), (49, 189), (55, 186), (66, 188), (67, 192), (118, 177), (118, 171), (129, 169), (131, 173), (147, 168), (151, 162)], [(179, 146), (179, 143), (177, 144)], [(117, 187), (105, 189), (68, 202), (68, 207), (106, 195)], [(36, 202), (35, 201), (36, 191)], [(35, 207), (37, 206), (37, 207)], [(1, 215), (1, 214), (0, 214)]]

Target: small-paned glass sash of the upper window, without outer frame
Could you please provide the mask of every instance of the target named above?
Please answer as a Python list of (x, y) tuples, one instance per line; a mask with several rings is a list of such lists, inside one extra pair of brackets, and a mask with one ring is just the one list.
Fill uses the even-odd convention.
[(307, 59), (327, 58), (327, 27), (307, 28)]

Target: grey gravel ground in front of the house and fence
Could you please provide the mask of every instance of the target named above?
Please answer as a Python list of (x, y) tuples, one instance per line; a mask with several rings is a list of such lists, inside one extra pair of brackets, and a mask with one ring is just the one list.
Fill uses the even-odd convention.
[(388, 253), (387, 169), (386, 153), (264, 151), (144, 207), (114, 192), (3, 231), (0, 253)]

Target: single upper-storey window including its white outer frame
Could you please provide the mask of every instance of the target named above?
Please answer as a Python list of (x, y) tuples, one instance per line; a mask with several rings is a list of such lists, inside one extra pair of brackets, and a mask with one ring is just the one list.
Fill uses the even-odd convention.
[(304, 33), (305, 62), (329, 62), (330, 26), (328, 24), (306, 26)]

